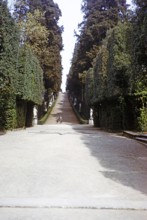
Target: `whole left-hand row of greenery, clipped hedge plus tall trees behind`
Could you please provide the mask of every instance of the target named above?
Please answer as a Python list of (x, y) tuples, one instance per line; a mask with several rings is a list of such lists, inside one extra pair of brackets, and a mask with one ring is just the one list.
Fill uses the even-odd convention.
[[(32, 125), (61, 86), (62, 27), (53, 0), (0, 2), (0, 130)], [(45, 104), (44, 104), (45, 103)]]

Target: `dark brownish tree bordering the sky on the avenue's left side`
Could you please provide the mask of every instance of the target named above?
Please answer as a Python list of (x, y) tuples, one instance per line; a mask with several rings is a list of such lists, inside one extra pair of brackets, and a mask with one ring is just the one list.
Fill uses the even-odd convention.
[[(21, 8), (23, 8), (22, 14)], [(25, 15), (24, 22), (26, 22), (28, 12), (34, 16), (36, 10), (39, 10), (42, 14), (42, 17), (40, 16), (40, 20), (37, 20), (37, 22), (44, 26), (48, 31), (48, 43), (45, 44), (48, 52), (46, 53), (46, 56), (38, 57), (44, 71), (45, 87), (47, 90), (52, 89), (54, 92), (58, 92), (62, 81), (62, 65), (60, 56), (60, 52), (63, 48), (61, 37), (62, 27), (59, 27), (58, 25), (61, 11), (53, 0), (16, 1), (15, 15), (17, 15), (16, 17), (18, 17), (18, 19), (23, 18)], [(32, 45), (34, 42), (28, 37), (28, 43)], [(43, 56), (43, 54), (41, 56)]]

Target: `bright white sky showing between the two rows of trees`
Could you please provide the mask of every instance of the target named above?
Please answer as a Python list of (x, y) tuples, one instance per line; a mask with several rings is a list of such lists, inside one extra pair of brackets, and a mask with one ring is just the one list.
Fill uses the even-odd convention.
[[(14, 0), (8, 0), (10, 7)], [(62, 56), (62, 91), (65, 91), (66, 87), (66, 76), (69, 73), (71, 59), (74, 51), (76, 37), (74, 37), (74, 30), (78, 31), (78, 24), (82, 21), (83, 15), (81, 13), (82, 0), (54, 0), (59, 5), (62, 12), (59, 25), (64, 26), (63, 38), (63, 51)], [(131, 4), (132, 0), (127, 0), (128, 4)]]

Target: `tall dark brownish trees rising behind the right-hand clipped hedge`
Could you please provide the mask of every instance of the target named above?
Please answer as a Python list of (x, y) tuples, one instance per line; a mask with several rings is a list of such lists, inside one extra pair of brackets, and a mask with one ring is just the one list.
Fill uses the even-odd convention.
[(72, 73), (70, 73), (72, 77), (68, 79), (68, 82), (76, 79), (76, 84), (81, 85), (79, 86), (79, 97), (83, 97), (86, 72), (92, 67), (93, 60), (103, 39), (106, 37), (107, 31), (117, 25), (119, 20), (125, 20), (125, 10), (125, 0), (83, 1), (84, 20), (79, 25), (80, 35), (77, 36), (78, 51), (76, 59), (72, 60)]

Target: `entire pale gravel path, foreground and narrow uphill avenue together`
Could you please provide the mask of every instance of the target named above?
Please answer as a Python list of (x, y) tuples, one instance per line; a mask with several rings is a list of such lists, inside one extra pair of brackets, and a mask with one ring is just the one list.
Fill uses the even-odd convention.
[(66, 93), (46, 124), (0, 136), (0, 174), (0, 220), (147, 219), (146, 145), (79, 124)]

